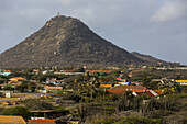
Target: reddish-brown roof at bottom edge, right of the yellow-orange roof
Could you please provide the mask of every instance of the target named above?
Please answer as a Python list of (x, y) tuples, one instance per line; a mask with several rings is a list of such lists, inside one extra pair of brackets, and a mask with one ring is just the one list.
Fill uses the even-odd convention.
[(55, 124), (55, 120), (30, 120), (28, 124)]

